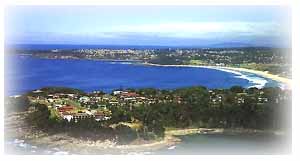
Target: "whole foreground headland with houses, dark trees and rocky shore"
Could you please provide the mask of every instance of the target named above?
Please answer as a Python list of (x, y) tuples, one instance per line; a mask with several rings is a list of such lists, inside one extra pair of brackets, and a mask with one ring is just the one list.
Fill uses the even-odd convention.
[[(118, 89), (111, 94), (46, 87), (6, 99), (6, 139), (80, 154), (145, 152), (178, 135), (287, 135), (291, 91), (205, 87)], [(81, 150), (80, 150), (81, 149)]]

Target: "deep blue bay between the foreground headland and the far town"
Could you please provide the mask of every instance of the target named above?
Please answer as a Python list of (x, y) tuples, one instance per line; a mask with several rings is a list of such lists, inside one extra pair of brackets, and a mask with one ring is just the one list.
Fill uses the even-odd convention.
[(117, 88), (175, 89), (188, 86), (230, 88), (234, 85), (276, 86), (276, 82), (246, 73), (193, 67), (146, 66), (133, 62), (40, 59), (6, 56), (5, 94), (16, 95), (45, 86), (65, 86), (86, 92)]

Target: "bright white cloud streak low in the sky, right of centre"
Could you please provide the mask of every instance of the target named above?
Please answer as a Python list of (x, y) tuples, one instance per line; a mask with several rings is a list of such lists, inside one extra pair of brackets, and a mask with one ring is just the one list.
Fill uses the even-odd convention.
[(112, 33), (159, 34), (166, 37), (199, 38), (229, 35), (279, 35), (282, 27), (273, 22), (173, 22), (157, 24), (120, 25)]

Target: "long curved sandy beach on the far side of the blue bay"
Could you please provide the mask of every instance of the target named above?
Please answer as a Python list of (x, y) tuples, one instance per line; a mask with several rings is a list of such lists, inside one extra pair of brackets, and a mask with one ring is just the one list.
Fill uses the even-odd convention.
[[(221, 71), (225, 71), (225, 72), (235, 72), (235, 71), (236, 72), (247, 72), (247, 73), (256, 74), (258, 76), (282, 83), (285, 85), (285, 88), (292, 89), (292, 79), (284, 78), (284, 77), (274, 75), (274, 74), (270, 74), (268, 71), (259, 71), (259, 70), (253, 70), (253, 69), (225, 67), (225, 66), (205, 66), (205, 65), (163, 65), (163, 64), (152, 64), (152, 63), (142, 63), (142, 65), (158, 66), (158, 67), (207, 68), (207, 69), (221, 70)], [(229, 71), (226, 71), (226, 70), (229, 70)]]

